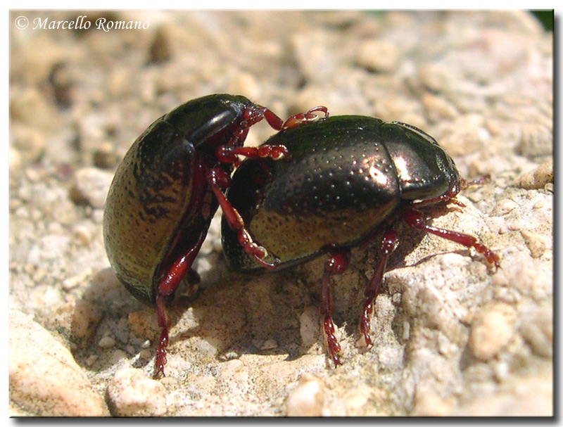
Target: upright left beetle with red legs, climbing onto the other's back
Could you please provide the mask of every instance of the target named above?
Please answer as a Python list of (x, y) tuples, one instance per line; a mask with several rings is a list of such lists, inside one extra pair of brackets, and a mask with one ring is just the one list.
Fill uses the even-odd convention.
[[(315, 107), (283, 122), (244, 96), (213, 94), (188, 101), (153, 122), (125, 154), (106, 197), (103, 239), (110, 265), (127, 290), (156, 305), (161, 329), (155, 376), (164, 374), (170, 320), (165, 300), (185, 278), (199, 276), (191, 265), (218, 206), (236, 216), (224, 197), (238, 155), (279, 160), (284, 146), (243, 147), (248, 129), (265, 119), (276, 130), (314, 121)], [(266, 251), (243, 224), (240, 241), (256, 262)]]

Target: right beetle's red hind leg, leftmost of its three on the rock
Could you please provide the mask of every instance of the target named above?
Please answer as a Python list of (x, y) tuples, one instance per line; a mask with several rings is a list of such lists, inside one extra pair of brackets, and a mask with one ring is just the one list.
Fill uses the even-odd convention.
[(341, 274), (350, 262), (350, 253), (346, 250), (334, 252), (324, 262), (324, 274), (321, 281), (321, 311), (324, 314), (324, 333), (327, 335), (327, 348), (329, 354), (334, 362), (334, 367), (337, 367), (340, 362), (339, 352), (341, 350), (339, 341), (334, 336), (334, 321), (332, 321), (333, 304), (330, 295), (330, 276), (332, 274)]

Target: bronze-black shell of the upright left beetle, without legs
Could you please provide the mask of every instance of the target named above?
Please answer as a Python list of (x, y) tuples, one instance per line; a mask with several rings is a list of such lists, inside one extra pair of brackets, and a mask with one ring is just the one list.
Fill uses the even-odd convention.
[(248, 108), (251, 101), (232, 95), (184, 103), (153, 122), (118, 166), (103, 238), (115, 273), (139, 300), (154, 303), (170, 263), (207, 232), (218, 204), (199, 166), (217, 165), (215, 148), (232, 138)]

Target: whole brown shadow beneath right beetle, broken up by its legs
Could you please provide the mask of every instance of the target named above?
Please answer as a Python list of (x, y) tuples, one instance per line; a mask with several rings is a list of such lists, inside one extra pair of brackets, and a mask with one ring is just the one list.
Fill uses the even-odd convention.
[[(388, 260), (386, 272), (407, 267), (405, 257), (412, 253), (425, 236), (424, 231), (399, 222), (394, 227), (400, 245)], [(334, 321), (344, 327), (348, 336), (358, 336), (358, 324), (365, 302), (365, 289), (381, 256), (383, 231), (352, 250), (349, 270), (358, 276), (355, 288), (343, 298), (349, 307), (336, 311)], [(436, 236), (436, 238), (439, 238)], [(428, 257), (434, 256), (428, 255)], [(424, 262), (422, 260), (418, 263)], [(320, 281), (325, 255), (320, 255), (304, 265), (261, 274), (238, 274), (226, 270), (222, 279), (213, 279), (189, 306), (193, 323), (197, 326), (181, 327), (170, 336), (175, 342), (203, 339), (217, 349), (221, 361), (242, 355), (286, 355), (292, 361), (310, 354), (311, 345), (302, 343), (300, 317), (306, 305), (317, 307), (320, 313)], [(409, 264), (412, 265), (412, 264)], [(220, 268), (222, 269), (222, 267)], [(341, 294), (340, 276), (331, 279), (335, 303)], [(384, 280), (382, 293), (391, 293)], [(350, 296), (350, 294), (352, 294)], [(185, 302), (176, 301), (170, 307), (172, 318), (181, 323)], [(320, 314), (319, 314), (320, 315)], [(402, 323), (401, 323), (402, 327)], [(395, 330), (396, 328), (393, 328)], [(400, 328), (399, 328), (400, 329)], [(402, 331), (397, 330), (398, 336)], [(274, 347), (270, 347), (272, 340)], [(171, 349), (170, 351), (174, 351)], [(327, 356), (327, 363), (329, 356)]]

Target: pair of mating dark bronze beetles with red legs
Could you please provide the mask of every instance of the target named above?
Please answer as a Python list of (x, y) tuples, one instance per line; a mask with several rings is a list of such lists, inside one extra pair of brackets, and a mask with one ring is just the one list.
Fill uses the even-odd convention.
[[(243, 147), (248, 128), (263, 118), (280, 132), (258, 148)], [(231, 179), (238, 155), (247, 160)], [(242, 96), (212, 95), (160, 117), (129, 149), (106, 200), (104, 241), (120, 281), (139, 300), (156, 304), (162, 328), (156, 374), (166, 362), (165, 299), (182, 279), (198, 281), (191, 265), (218, 205), (234, 269), (288, 267), (329, 253), (321, 305), (329, 353), (339, 364), (330, 276), (346, 269), (351, 246), (386, 228), (360, 321), (371, 343), (372, 304), (398, 244), (392, 217), (473, 247), (498, 267), (498, 256), (476, 238), (431, 227), (417, 210), (456, 203), (463, 185), (451, 158), (415, 127), (328, 117), (324, 107), (282, 122)]]

